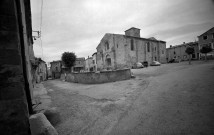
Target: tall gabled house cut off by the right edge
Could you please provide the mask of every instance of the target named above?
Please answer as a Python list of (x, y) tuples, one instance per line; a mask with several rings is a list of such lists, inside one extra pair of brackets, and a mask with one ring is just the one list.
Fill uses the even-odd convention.
[[(209, 45), (213, 51), (208, 53), (208, 58), (214, 59), (214, 27), (206, 31), (205, 33), (198, 36), (198, 45), (199, 50), (206, 45)], [(199, 57), (202, 59), (204, 57), (204, 54), (199, 52)]]

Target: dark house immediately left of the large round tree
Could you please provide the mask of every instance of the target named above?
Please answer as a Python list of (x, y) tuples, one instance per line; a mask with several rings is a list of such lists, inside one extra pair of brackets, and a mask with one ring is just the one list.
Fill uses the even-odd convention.
[(52, 61), (50, 62), (50, 64), (51, 64), (50, 70), (52, 74), (51, 75), (52, 79), (60, 78), (61, 71), (62, 71), (62, 61), (61, 60)]

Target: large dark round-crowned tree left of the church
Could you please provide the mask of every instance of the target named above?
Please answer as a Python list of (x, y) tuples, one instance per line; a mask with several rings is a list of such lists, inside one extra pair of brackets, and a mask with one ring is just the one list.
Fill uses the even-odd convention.
[(62, 62), (69, 69), (74, 66), (76, 61), (76, 55), (73, 52), (64, 52), (61, 57)]

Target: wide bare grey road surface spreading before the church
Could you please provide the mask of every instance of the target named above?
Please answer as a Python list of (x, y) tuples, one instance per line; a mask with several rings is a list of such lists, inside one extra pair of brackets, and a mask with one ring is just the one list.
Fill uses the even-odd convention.
[(133, 70), (135, 79), (101, 85), (48, 81), (64, 134), (214, 134), (214, 61)]

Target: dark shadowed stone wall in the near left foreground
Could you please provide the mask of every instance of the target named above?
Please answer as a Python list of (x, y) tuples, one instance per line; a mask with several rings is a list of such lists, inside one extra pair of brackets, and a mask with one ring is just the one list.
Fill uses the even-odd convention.
[(23, 24), (18, 25), (17, 13), (17, 11), (21, 13), (21, 5), (25, 2), (0, 1), (0, 134), (2, 135), (30, 134), (26, 98), (29, 90), (27, 88), (29, 86), (26, 85), (29, 74), (27, 75), (28, 66), (23, 64), (26, 62), (25, 39), (20, 35), (19, 28), (22, 27), (19, 26)]

